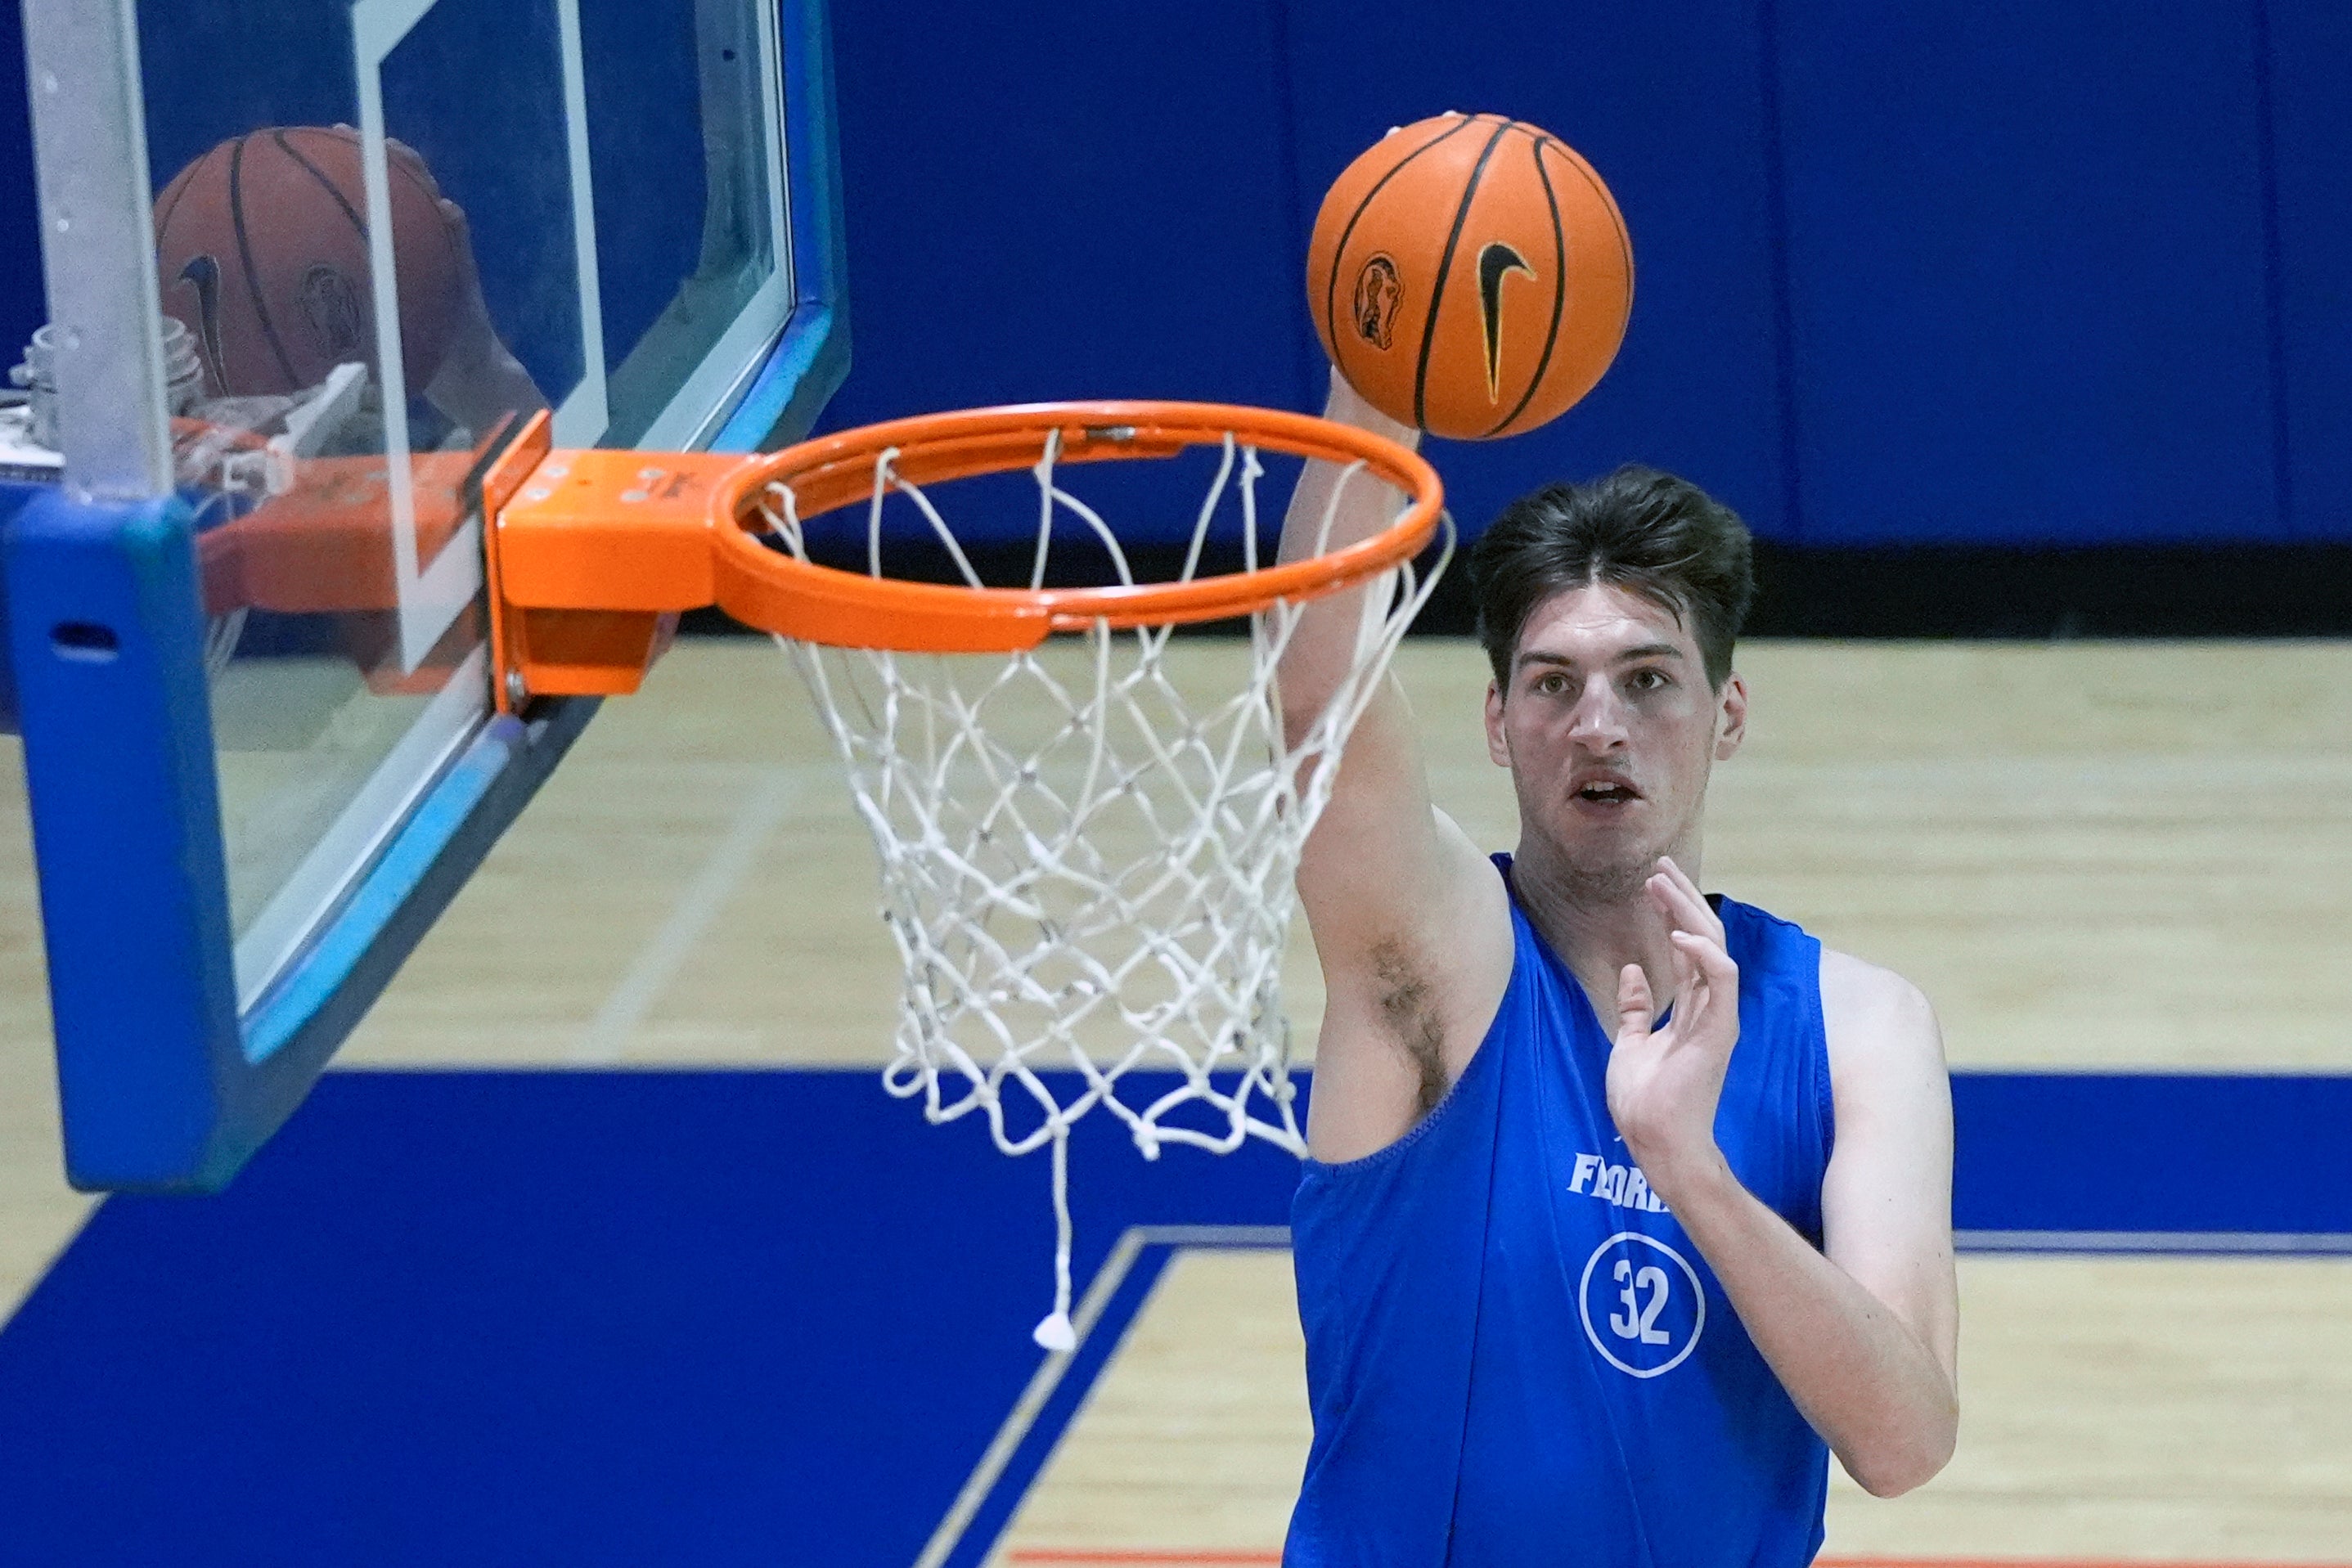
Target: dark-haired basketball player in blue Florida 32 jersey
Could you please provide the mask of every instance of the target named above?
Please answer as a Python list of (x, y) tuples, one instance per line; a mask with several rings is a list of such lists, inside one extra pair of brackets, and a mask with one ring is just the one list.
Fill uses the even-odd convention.
[[(1329, 414), (1416, 433), (1334, 376)], [(1341, 470), (1310, 465), (1305, 552)], [(1355, 480), (1331, 543), (1385, 522)], [(1294, 1566), (1802, 1568), (1957, 1427), (1950, 1088), (1926, 999), (1700, 896), (1748, 722), (1750, 541), (1651, 470), (1510, 505), (1470, 564), (1519, 846), (1430, 804), (1390, 679), (1308, 839), (1329, 1006), (1294, 1206), (1315, 1443)], [(1282, 665), (1305, 724), (1355, 604)]]

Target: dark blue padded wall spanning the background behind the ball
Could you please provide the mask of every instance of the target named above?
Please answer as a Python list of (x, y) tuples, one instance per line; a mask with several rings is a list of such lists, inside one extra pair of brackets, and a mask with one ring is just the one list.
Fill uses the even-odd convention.
[(1327, 181), (1390, 125), (1494, 108), (1592, 158), (1637, 287), (1581, 409), (1437, 449), (1468, 527), (1646, 458), (1804, 545), (2352, 541), (2333, 0), (835, 9), (856, 364), (828, 428), (1310, 407)]

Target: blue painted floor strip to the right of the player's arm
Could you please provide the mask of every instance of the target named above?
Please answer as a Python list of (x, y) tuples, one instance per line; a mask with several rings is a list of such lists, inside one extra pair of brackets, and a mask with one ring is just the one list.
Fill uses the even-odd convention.
[(2352, 1234), (2352, 1077), (1952, 1074), (1959, 1229)]

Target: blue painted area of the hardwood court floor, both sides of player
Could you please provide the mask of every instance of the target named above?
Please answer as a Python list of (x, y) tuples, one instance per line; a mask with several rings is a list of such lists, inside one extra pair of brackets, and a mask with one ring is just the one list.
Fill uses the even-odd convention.
[[(1955, 1105), (1976, 1232), (2352, 1229), (2352, 1079)], [(1127, 1225), (1282, 1225), (1298, 1168), (1091, 1117), (1070, 1171), (1087, 1281)], [(873, 1072), (329, 1074), (228, 1194), (106, 1201), (0, 1328), (0, 1519), (56, 1568), (908, 1563), (1040, 1363), (1049, 1255), (1047, 1161)]]

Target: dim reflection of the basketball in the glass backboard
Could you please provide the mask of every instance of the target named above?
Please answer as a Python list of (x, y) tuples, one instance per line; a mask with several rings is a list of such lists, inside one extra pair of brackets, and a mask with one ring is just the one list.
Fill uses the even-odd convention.
[[(440, 193), (390, 153), (393, 263), (407, 390), (440, 369), (461, 313), (461, 263)], [(360, 136), (285, 127), (223, 141), (155, 197), (155, 280), (205, 357), (214, 393), (318, 386), (329, 369), (376, 371)]]

